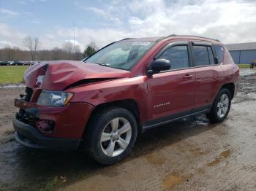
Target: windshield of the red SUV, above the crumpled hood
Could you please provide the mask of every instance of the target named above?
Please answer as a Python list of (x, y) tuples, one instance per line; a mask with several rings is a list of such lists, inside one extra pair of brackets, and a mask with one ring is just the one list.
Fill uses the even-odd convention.
[(116, 69), (131, 70), (155, 42), (120, 41), (99, 50), (85, 62)]

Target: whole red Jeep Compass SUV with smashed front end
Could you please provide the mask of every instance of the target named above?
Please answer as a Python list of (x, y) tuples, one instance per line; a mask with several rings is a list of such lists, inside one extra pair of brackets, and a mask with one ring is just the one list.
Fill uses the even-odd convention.
[(24, 74), (13, 125), (34, 148), (78, 149), (117, 163), (138, 132), (195, 114), (222, 122), (239, 70), (218, 40), (170, 35), (123, 39), (85, 61), (48, 61)]

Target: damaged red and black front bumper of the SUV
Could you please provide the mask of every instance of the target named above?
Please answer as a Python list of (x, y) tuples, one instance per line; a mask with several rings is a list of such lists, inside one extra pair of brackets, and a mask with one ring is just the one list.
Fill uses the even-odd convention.
[(15, 99), (20, 111), (13, 119), (15, 139), (26, 147), (75, 150), (94, 106), (70, 103), (67, 106), (38, 106)]

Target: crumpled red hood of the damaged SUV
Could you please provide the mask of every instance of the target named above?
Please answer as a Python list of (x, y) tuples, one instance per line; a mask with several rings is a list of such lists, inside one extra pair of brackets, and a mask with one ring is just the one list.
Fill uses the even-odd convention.
[(81, 61), (50, 61), (37, 63), (25, 72), (25, 85), (42, 90), (64, 90), (85, 79), (129, 77), (130, 72)]

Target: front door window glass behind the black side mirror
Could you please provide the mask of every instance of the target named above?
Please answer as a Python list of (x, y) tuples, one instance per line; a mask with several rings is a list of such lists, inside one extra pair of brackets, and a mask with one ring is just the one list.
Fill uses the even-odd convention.
[(160, 58), (170, 61), (170, 69), (184, 69), (189, 67), (189, 54), (187, 45), (169, 47)]

